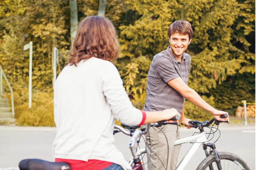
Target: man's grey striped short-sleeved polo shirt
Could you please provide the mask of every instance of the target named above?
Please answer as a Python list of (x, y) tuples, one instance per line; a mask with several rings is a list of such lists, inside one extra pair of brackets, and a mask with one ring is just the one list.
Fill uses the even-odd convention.
[(167, 82), (180, 77), (188, 84), (190, 63), (190, 55), (183, 53), (180, 63), (170, 51), (170, 47), (156, 54), (148, 71), (147, 100), (143, 110), (162, 111), (175, 108), (181, 113), (184, 98)]

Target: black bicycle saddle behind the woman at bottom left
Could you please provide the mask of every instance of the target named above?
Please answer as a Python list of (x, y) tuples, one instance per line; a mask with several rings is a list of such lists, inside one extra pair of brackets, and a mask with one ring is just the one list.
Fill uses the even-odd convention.
[(24, 159), (19, 163), (20, 170), (71, 170), (68, 163), (48, 162), (42, 159)]

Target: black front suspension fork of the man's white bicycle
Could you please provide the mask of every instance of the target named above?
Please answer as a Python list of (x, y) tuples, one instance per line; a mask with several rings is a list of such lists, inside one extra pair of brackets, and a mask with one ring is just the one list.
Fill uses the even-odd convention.
[[(210, 147), (210, 148), (212, 149), (212, 151), (210, 151), (209, 153), (212, 154), (212, 152), (213, 152), (214, 157), (215, 157), (215, 162), (216, 162), (217, 167), (218, 167), (218, 170), (221, 170), (222, 167), (221, 167), (221, 165), (220, 165), (220, 155), (219, 155), (219, 152), (216, 150), (215, 144), (214, 144), (214, 143), (203, 144), (203, 149), (204, 149), (204, 152), (205, 152), (206, 157), (209, 156), (209, 153), (207, 152), (207, 147)], [(210, 170), (213, 170), (212, 164), (209, 165), (209, 169), (210, 169)]]

